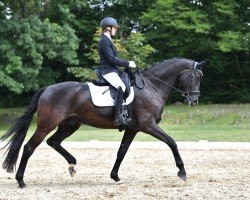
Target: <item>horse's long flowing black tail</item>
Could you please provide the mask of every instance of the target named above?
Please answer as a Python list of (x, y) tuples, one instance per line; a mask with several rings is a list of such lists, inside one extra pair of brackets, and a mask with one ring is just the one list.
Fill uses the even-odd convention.
[(0, 141), (3, 141), (12, 136), (10, 141), (3, 147), (5, 148), (8, 146), (8, 149), (6, 151), (7, 156), (3, 162), (3, 168), (7, 172), (14, 171), (22, 143), (25, 139), (33, 116), (37, 110), (38, 100), (45, 89), (46, 88), (41, 88), (35, 93), (25, 113), (21, 117), (19, 117), (16, 120), (15, 124), (0, 138)]

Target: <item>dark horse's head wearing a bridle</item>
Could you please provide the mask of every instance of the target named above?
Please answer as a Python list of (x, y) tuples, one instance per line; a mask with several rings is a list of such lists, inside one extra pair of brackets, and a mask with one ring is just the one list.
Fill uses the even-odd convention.
[(208, 63), (208, 60), (200, 63), (195, 62), (193, 68), (185, 69), (179, 76), (179, 84), (181, 89), (184, 91), (186, 97), (185, 103), (189, 106), (198, 105), (200, 96), (200, 83), (203, 76), (202, 68)]

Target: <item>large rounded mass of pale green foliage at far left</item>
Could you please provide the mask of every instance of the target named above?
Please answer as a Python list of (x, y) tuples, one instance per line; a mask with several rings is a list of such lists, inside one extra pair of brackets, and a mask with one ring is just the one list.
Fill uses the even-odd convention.
[[(69, 26), (59, 26), (35, 16), (1, 21), (0, 86), (14, 93), (36, 90), (55, 82), (57, 72), (49, 67), (51, 60), (76, 65), (78, 40)], [(44, 66), (44, 64), (46, 64)], [(47, 70), (43, 70), (47, 68)], [(41, 73), (50, 72), (44, 76)], [(46, 78), (43, 82), (40, 78)], [(42, 84), (44, 83), (44, 84)]]

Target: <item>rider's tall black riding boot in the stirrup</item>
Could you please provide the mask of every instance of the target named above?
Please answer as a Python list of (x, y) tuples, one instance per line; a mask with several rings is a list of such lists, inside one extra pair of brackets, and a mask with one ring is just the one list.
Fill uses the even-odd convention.
[(119, 87), (116, 92), (115, 97), (115, 125), (128, 125), (131, 121), (130, 118), (126, 118), (122, 113), (122, 103), (123, 103), (124, 92), (122, 88)]

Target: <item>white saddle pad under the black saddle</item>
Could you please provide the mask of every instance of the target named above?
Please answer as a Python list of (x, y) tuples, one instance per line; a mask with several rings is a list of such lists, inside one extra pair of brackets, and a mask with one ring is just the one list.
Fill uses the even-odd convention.
[[(99, 107), (114, 106), (115, 100), (112, 99), (108, 86), (96, 86), (93, 83), (87, 83), (89, 86), (92, 102)], [(130, 104), (134, 99), (134, 88), (130, 88), (130, 95), (126, 99), (126, 105)]]

